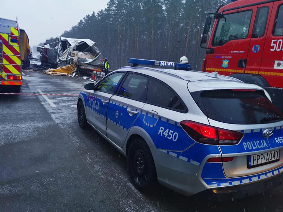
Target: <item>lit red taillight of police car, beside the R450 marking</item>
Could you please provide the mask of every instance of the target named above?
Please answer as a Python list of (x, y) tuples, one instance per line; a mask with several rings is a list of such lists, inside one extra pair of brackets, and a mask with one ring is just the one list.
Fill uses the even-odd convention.
[(189, 120), (180, 122), (180, 125), (193, 140), (204, 144), (237, 144), (244, 135), (242, 132), (225, 130)]

